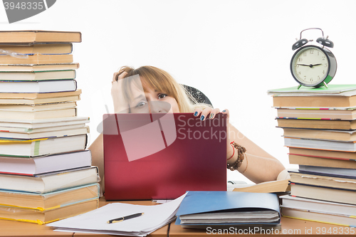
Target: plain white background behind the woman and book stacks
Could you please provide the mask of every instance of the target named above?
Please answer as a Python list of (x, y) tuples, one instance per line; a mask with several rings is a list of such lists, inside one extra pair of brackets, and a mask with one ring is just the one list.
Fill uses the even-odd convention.
[[(228, 108), (231, 122), (287, 168), (283, 130), (268, 89), (297, 85), (290, 75), (292, 45), (305, 28), (322, 28), (335, 43), (331, 83), (355, 83), (356, 1), (88, 1), (57, 0), (50, 9), (0, 30), (80, 31), (75, 43), (79, 115), (90, 117), (93, 141), (110, 101), (112, 74), (122, 65), (154, 65), (179, 83)], [(306, 31), (316, 39), (321, 31)], [(356, 84), (356, 83), (355, 83)], [(142, 141), (145, 142), (145, 141)], [(138, 142), (140, 143), (140, 142)], [(242, 179), (238, 172), (229, 179)]]

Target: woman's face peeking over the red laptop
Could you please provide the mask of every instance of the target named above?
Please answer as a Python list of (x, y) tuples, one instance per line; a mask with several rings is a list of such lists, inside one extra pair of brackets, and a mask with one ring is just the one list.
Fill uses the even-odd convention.
[(179, 112), (177, 100), (171, 96), (159, 92), (147, 83), (142, 83), (142, 88), (137, 88), (132, 84), (132, 102), (130, 102), (131, 113), (167, 113), (167, 112)]

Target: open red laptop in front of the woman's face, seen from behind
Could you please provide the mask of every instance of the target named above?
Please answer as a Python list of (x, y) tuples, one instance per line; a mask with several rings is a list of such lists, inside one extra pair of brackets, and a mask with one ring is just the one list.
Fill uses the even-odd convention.
[(226, 191), (226, 115), (104, 115), (106, 200)]

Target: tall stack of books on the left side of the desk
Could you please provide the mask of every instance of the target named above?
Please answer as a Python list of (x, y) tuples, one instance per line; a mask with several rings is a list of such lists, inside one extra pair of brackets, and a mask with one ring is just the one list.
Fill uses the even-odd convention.
[(0, 219), (48, 223), (98, 207), (77, 116), (80, 32), (0, 31)]

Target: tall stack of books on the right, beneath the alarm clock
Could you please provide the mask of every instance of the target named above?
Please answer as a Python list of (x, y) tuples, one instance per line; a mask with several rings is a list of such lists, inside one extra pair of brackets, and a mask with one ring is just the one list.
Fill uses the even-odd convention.
[(356, 85), (268, 90), (283, 128), (290, 196), (282, 214), (356, 226)]

